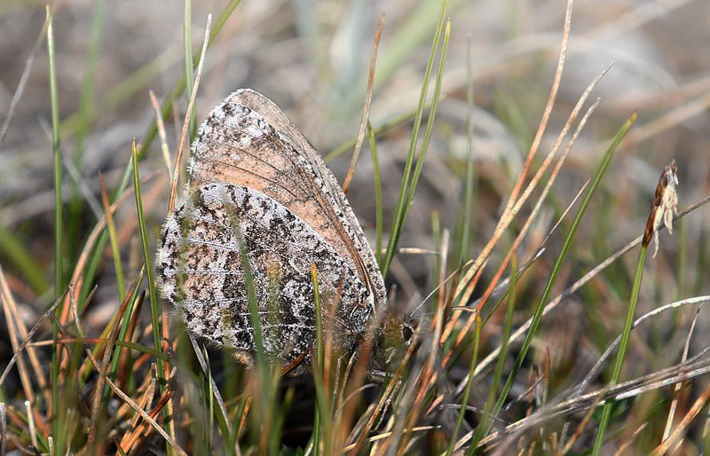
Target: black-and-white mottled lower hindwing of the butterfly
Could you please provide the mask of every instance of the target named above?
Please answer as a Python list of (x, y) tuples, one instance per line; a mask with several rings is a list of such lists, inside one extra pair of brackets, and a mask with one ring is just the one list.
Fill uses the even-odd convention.
[(241, 242), (259, 305), (264, 348), (285, 362), (308, 354), (315, 332), (312, 264), (319, 292), (333, 303), (330, 321), (338, 346), (351, 350), (367, 325), (367, 288), (350, 264), (278, 201), (253, 189), (202, 185), (165, 224), (160, 249), (163, 293), (177, 303), (185, 325), (219, 346), (255, 349)]

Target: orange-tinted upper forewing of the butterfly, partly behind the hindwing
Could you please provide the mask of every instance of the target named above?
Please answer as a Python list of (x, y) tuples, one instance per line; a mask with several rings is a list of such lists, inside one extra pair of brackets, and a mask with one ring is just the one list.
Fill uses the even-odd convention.
[(246, 186), (279, 201), (352, 264), (373, 309), (384, 305), (382, 275), (335, 177), (271, 100), (237, 90), (209, 114), (193, 146), (190, 189), (209, 182)]

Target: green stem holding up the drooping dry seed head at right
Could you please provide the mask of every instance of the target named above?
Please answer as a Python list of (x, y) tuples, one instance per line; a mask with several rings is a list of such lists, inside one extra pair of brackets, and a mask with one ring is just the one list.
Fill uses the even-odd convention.
[[(624, 332), (621, 334), (621, 342), (619, 342), (619, 354), (616, 358), (616, 363), (614, 363), (614, 370), (611, 373), (610, 385), (615, 385), (619, 381), (621, 376), (621, 368), (624, 366), (624, 359), (627, 355), (628, 341), (631, 336), (631, 328), (634, 325), (634, 313), (636, 311), (636, 303), (638, 303), (638, 295), (641, 291), (641, 281), (643, 279), (643, 264), (646, 260), (646, 254), (648, 252), (648, 245), (641, 246), (641, 252), (638, 256), (638, 262), (636, 263), (636, 275), (634, 279), (634, 287), (631, 288), (631, 297), (628, 301), (628, 311), (627, 319), (624, 322)], [(602, 444), (604, 444), (604, 434), (606, 433), (606, 427), (609, 425), (609, 419), (611, 418), (611, 406), (613, 401), (607, 400), (604, 403), (604, 408), (602, 409), (602, 418), (599, 420), (599, 427), (596, 431), (596, 437), (594, 441), (594, 447), (592, 448), (592, 454), (594, 456), (598, 455), (602, 449)]]

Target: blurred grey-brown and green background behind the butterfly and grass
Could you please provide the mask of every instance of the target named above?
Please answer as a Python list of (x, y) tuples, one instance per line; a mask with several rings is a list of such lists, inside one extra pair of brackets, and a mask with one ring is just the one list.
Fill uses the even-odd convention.
[[(225, 6), (225, 1), (193, 3), (193, 51), (201, 48), (208, 13), (214, 26)], [(388, 285), (397, 285), (396, 301), (402, 309), (421, 303), (435, 281), (431, 277), (434, 256), (428, 253), (435, 244), (432, 212), (438, 213), (443, 228), (456, 232), (460, 226), (469, 83), (475, 100), (474, 248), (469, 252), (474, 256), (493, 233), (540, 123), (556, 71), (565, 7), (560, 0), (449, 2), (452, 33), (442, 101), (400, 242), (402, 248), (421, 251), (398, 255), (387, 278)], [(146, 0), (66, 0), (54, 2), (52, 9), (61, 146), (67, 168), (64, 197), (71, 233), (65, 267), (71, 270), (95, 214), (102, 213), (99, 170), (107, 187), (114, 188), (130, 161), (131, 140), (142, 142), (154, 120), (148, 90), (162, 100), (184, 74), (184, 11), (181, 2)], [(258, 90), (291, 117), (320, 153), (335, 151), (329, 166), (342, 182), (352, 149), (347, 144), (359, 131), (373, 35), (386, 13), (370, 115), (373, 127), (389, 125), (377, 144), (386, 234), (411, 137), (412, 120), (402, 119), (416, 108), (439, 9), (438, 1), (242, 0), (207, 51), (196, 98), (197, 122), (233, 90)], [(0, 121), (6, 122), (12, 99), (21, 89), (12, 119), (0, 131), (0, 263), (30, 326), (51, 301), (53, 267), (53, 161), (44, 20), (42, 2), (0, 3)], [(520, 249), (521, 259), (533, 253), (581, 186), (594, 176), (620, 125), (635, 111), (639, 119), (592, 200), (577, 233), (575, 253), (558, 280), (560, 290), (643, 233), (659, 174), (672, 159), (680, 178), (679, 208), (710, 192), (708, 43), (710, 3), (706, 0), (575, 2), (559, 95), (533, 169), (551, 150), (588, 84), (613, 66), (590, 98), (600, 97), (601, 102)], [(33, 59), (29, 66), (28, 59)], [(26, 80), (20, 83), (26, 71)], [(175, 115), (166, 122), (172, 153), (186, 105), (182, 94)], [(141, 162), (141, 176), (146, 178), (144, 203), (154, 241), (169, 189), (157, 141)], [(374, 189), (366, 141), (349, 200), (368, 235), (375, 226)], [(524, 215), (530, 208), (532, 203), (524, 208)], [(130, 201), (116, 220), (122, 253), (132, 265), (128, 279), (132, 279), (142, 254)], [(522, 218), (514, 223), (501, 248), (493, 252), (494, 266), (485, 271), (483, 283), (522, 223)], [(568, 216), (562, 234), (556, 234), (538, 260), (540, 266), (521, 279), (525, 293), (533, 296), (531, 305), (547, 281), (569, 223)], [(660, 233), (659, 255), (646, 266), (639, 312), (707, 293), (708, 227), (710, 211), (702, 207), (675, 224), (673, 237)], [(99, 328), (118, 305), (109, 255), (107, 251), (87, 314), (87, 325), (93, 322)], [(635, 253), (622, 257), (544, 320), (545, 343), (554, 350), (556, 366), (586, 358), (593, 363), (611, 336), (619, 334), (635, 261)], [(519, 310), (518, 323), (529, 317), (530, 307), (520, 303)], [(683, 309), (645, 326), (635, 372), (627, 375), (677, 362), (693, 314), (694, 310)], [(704, 325), (700, 327), (710, 324), (706, 312), (700, 321)], [(496, 327), (486, 326), (492, 346)], [(6, 355), (9, 342), (0, 343)], [(700, 350), (710, 338), (699, 334), (693, 343)]]

